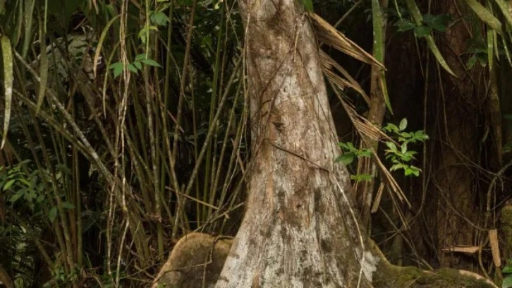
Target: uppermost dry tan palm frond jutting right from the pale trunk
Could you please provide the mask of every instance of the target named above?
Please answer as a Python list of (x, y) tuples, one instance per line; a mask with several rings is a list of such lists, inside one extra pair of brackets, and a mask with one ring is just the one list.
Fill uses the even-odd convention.
[(364, 49), (348, 39), (343, 33), (332, 27), (326, 20), (322, 19), (315, 13), (309, 13), (313, 29), (317, 39), (325, 44), (338, 49), (339, 51), (353, 56), (355, 59), (363, 61), (367, 64), (379, 66), (384, 69), (384, 65), (377, 61), (372, 55)]

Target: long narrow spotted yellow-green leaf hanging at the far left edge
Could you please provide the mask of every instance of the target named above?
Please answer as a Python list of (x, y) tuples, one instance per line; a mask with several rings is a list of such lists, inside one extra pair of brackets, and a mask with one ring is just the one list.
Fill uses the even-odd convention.
[(13, 52), (11, 50), (11, 41), (6, 35), (0, 37), (0, 45), (2, 49), (2, 59), (4, 61), (4, 90), (6, 99), (6, 108), (4, 112), (4, 132), (2, 133), (2, 141), (0, 149), (4, 148), (7, 139), (7, 131), (9, 121), (11, 120), (11, 102), (13, 100)]

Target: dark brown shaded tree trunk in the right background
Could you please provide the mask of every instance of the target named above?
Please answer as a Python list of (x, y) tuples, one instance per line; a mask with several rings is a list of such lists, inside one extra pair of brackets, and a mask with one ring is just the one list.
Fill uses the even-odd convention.
[[(453, 18), (461, 16), (456, 1), (439, 3), (441, 13)], [(451, 25), (444, 34), (446, 62), (458, 78), (443, 73), (444, 88), (438, 95), (437, 109), (439, 135), (437, 141), (437, 169), (434, 169), (434, 188), (437, 198), (437, 253), (441, 267), (458, 267), (475, 270), (473, 261), (463, 253), (453, 253), (457, 246), (478, 246), (473, 225), (482, 222), (477, 218), (479, 196), (473, 188), (477, 183), (477, 169), (473, 163), (478, 161), (478, 145), (483, 145), (478, 131), (482, 126), (480, 107), (482, 107), (483, 85), (480, 65), (472, 69), (465, 67), (462, 57), (468, 51), (471, 39), (470, 30), (463, 20)], [(477, 33), (477, 32), (473, 32)], [(479, 123), (480, 122), (480, 123)], [(482, 143), (481, 143), (482, 142)], [(479, 144), (480, 143), (480, 144)], [(484, 207), (481, 205), (480, 207)]]

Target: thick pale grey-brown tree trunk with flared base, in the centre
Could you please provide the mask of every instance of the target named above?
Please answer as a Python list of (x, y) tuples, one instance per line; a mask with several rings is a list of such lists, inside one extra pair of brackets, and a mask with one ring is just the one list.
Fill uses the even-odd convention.
[[(295, 0), (240, 1), (250, 98), (247, 210), (221, 287), (371, 287), (310, 23)], [(361, 265), (362, 264), (362, 265)]]

